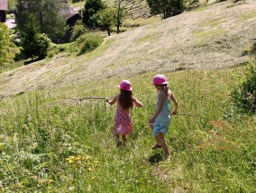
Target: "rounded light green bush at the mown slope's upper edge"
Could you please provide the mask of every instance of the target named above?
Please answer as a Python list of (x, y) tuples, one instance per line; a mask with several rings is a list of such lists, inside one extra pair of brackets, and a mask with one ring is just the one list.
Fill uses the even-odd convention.
[(88, 51), (91, 51), (103, 42), (103, 38), (100, 34), (97, 33), (87, 33), (86, 35), (81, 36), (78, 39), (79, 51), (78, 55), (84, 54)]

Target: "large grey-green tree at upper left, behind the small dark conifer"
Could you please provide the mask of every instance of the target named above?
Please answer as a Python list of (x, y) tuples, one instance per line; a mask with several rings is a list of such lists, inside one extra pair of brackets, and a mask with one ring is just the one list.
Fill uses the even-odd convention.
[(66, 6), (59, 0), (17, 0), (17, 27), (23, 31), (24, 22), (33, 14), (39, 23), (41, 33), (48, 34), (50, 39), (60, 39), (67, 30)]

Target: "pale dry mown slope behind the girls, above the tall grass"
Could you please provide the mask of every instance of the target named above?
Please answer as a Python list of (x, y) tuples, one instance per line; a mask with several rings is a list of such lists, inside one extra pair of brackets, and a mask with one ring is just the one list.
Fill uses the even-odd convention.
[(83, 56), (41, 60), (0, 75), (0, 96), (41, 87), (127, 78), (149, 71), (219, 69), (245, 63), (256, 41), (256, 2), (211, 4), (105, 38)]

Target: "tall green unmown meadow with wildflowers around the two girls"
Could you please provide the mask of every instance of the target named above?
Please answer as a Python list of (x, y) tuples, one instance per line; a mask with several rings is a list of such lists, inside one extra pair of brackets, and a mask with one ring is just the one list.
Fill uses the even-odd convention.
[[(155, 110), (155, 73), (129, 77), (133, 135), (117, 149), (114, 97), (120, 79), (28, 92), (0, 102), (2, 192), (255, 192), (256, 117), (230, 101), (244, 67), (165, 74), (178, 99), (167, 142), (171, 160), (152, 151), (148, 119)], [(71, 98), (71, 99), (70, 99)]]

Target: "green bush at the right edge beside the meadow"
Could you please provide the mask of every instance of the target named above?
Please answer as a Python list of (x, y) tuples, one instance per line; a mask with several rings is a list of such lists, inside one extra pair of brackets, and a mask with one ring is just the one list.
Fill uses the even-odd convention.
[(256, 60), (247, 67), (244, 78), (234, 88), (232, 99), (242, 110), (256, 113)]

